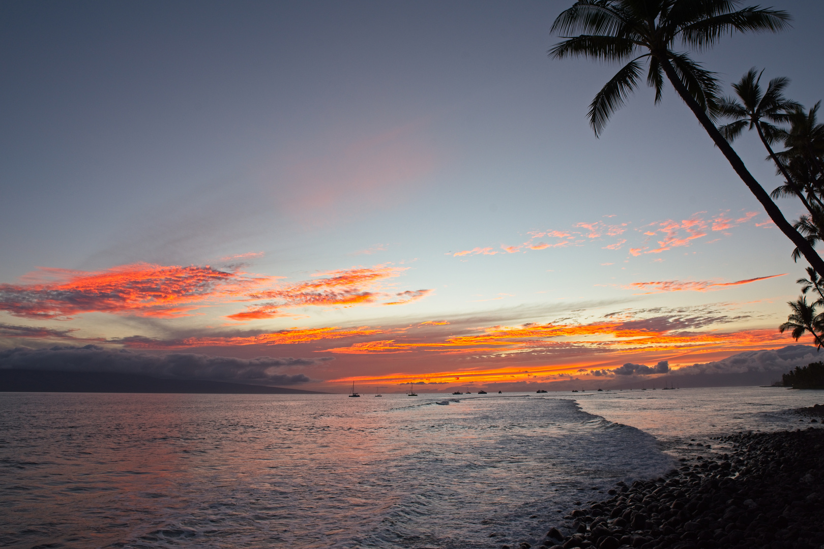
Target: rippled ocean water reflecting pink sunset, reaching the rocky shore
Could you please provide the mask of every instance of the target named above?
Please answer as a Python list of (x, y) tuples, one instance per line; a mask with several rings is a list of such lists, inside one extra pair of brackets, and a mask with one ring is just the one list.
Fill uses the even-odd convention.
[(0, 393), (0, 547), (535, 541), (575, 501), (711, 435), (801, 426), (786, 410), (822, 397)]

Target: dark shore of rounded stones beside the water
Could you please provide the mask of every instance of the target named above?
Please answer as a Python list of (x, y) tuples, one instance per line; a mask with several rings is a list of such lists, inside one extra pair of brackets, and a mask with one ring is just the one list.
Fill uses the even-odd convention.
[[(794, 410), (807, 418), (822, 412), (820, 404)], [(588, 501), (565, 515), (536, 547), (824, 547), (824, 429), (741, 431), (711, 440), (730, 448), (680, 458), (681, 468), (653, 481), (619, 482), (607, 492), (609, 499)]]

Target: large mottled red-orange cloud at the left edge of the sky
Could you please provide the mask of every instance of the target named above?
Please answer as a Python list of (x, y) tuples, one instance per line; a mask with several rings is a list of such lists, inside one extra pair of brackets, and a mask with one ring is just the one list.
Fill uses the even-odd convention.
[(269, 281), (207, 266), (134, 263), (98, 272), (41, 268), (28, 284), (0, 284), (0, 310), (26, 318), (68, 319), (103, 312), (169, 318), (244, 295)]

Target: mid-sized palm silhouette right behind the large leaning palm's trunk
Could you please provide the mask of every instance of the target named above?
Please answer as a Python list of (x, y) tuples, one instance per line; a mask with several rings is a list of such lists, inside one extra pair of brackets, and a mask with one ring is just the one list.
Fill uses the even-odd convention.
[[(755, 67), (752, 67), (740, 81), (733, 84), (733, 90), (735, 90), (738, 99), (741, 100), (740, 102), (732, 96), (724, 97), (720, 101), (719, 115), (723, 118), (733, 119), (733, 122), (721, 126), (719, 132), (728, 142), (732, 143), (736, 137), (741, 135), (744, 128), (755, 129), (767, 152), (770, 153), (770, 159), (775, 162), (780, 174), (784, 175), (787, 182), (786, 185), (776, 188), (770, 193), (770, 196), (780, 198), (792, 193), (798, 196), (804, 207), (812, 213), (812, 207), (808, 202), (808, 198), (804, 197), (801, 185), (789, 174), (787, 167), (775, 156), (775, 151), (772, 149), (776, 137), (784, 136), (781, 128), (776, 127), (774, 123), (789, 122), (790, 114), (787, 111), (801, 105), (796, 101), (784, 98), (783, 92), (784, 88), (789, 85), (789, 78), (773, 78), (767, 85), (767, 90), (762, 92), (761, 74), (763, 72), (758, 72)], [(813, 194), (812, 198), (817, 197)], [(821, 202), (818, 203), (818, 206), (822, 206)]]

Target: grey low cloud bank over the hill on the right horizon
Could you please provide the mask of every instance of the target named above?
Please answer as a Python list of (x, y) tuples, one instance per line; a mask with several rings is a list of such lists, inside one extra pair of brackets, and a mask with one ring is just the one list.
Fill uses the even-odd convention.
[(817, 351), (809, 345), (790, 345), (781, 349), (745, 351), (727, 358), (684, 366), (673, 373), (677, 375), (698, 374), (746, 374), (752, 372), (787, 372), (796, 366), (806, 366), (811, 362), (824, 360), (824, 351)]

